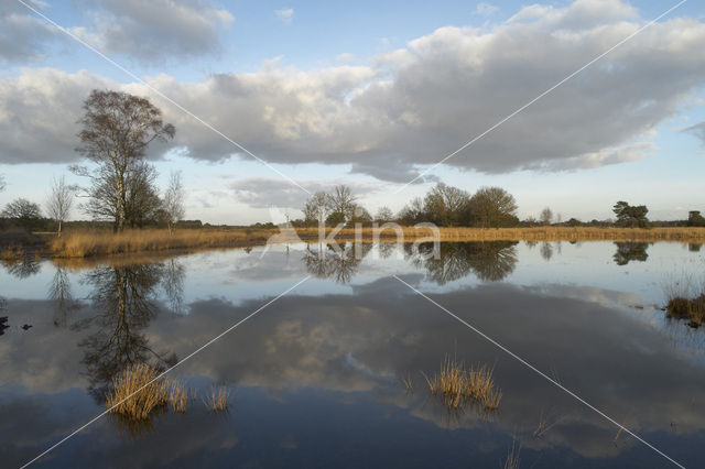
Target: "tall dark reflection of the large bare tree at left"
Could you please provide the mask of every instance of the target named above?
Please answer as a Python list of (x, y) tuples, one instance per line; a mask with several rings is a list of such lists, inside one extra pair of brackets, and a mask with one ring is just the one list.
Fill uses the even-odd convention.
[[(99, 391), (126, 367), (151, 362), (158, 368), (175, 363), (153, 351), (143, 329), (156, 310), (154, 290), (164, 275), (162, 264), (102, 266), (89, 272), (85, 282), (94, 286), (93, 307), (97, 315), (78, 326), (97, 330), (79, 342), (90, 388)], [(102, 392), (96, 392), (102, 397)]]

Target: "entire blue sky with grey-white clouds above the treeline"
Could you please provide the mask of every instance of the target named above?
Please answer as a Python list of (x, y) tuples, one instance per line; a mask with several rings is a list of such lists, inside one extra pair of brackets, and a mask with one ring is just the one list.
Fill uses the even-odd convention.
[(176, 127), (149, 157), (188, 219), (296, 218), (336, 184), (399, 210), (437, 182), (501, 186), (521, 218), (705, 211), (703, 2), (651, 24), (677, 0), (22, 1), (0, 0), (0, 206), (86, 183), (98, 88)]

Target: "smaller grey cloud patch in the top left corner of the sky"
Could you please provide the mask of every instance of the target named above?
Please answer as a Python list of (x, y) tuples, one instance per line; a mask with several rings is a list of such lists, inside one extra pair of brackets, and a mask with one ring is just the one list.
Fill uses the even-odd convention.
[[(32, 8), (52, 17), (37, 0)], [(84, 23), (67, 26), (106, 53), (119, 53), (143, 63), (166, 57), (195, 57), (221, 50), (220, 33), (235, 18), (205, 0), (95, 0), (82, 2)], [(68, 41), (62, 32), (14, 0), (0, 3), (0, 57), (39, 59), (51, 42)]]

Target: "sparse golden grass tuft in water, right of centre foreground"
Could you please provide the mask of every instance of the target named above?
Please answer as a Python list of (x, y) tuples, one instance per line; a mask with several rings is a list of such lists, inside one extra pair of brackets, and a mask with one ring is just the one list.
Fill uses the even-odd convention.
[(441, 397), (448, 410), (463, 408), (470, 402), (480, 403), (487, 410), (496, 410), (502, 393), (495, 389), (492, 371), (487, 366), (466, 368), (463, 362), (446, 357), (441, 371), (432, 378), (425, 378), (431, 393)]

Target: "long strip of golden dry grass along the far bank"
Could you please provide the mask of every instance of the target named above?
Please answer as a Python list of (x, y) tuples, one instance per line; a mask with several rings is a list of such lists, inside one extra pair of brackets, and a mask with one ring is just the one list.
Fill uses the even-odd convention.
[[(441, 241), (677, 241), (705, 242), (705, 228), (587, 228), (587, 227), (539, 227), (539, 228), (440, 228)], [(326, 230), (330, 233), (332, 228)], [(411, 242), (429, 237), (427, 228), (402, 227), (403, 240)], [(375, 231), (371, 227), (361, 229), (361, 239), (371, 241)], [(317, 240), (317, 228), (296, 230), (302, 240)], [(61, 238), (50, 238), (47, 251), (55, 258), (89, 258), (100, 255), (134, 254), (166, 250), (200, 250), (258, 246), (270, 237), (279, 242), (293, 239), (279, 233), (278, 229), (199, 229), (178, 230), (170, 234), (169, 230), (145, 229), (126, 230), (113, 233), (105, 230), (67, 231)], [(379, 233), (382, 241), (395, 240), (397, 233), (386, 229)], [(336, 239), (355, 239), (354, 228), (345, 228)]]

